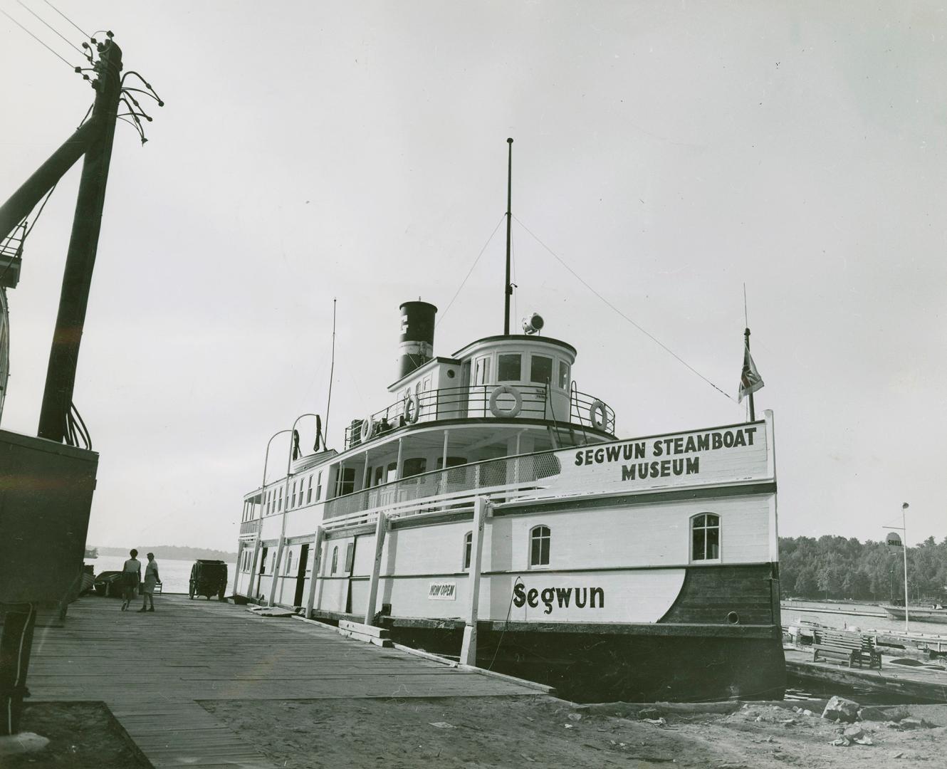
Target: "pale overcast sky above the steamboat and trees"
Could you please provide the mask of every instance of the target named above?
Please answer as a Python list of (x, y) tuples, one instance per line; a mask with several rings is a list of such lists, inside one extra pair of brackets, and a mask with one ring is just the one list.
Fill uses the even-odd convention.
[[(517, 219), (733, 396), (514, 223), (515, 323), (579, 349), (619, 436), (744, 418), (745, 282), (780, 534), (882, 539), (907, 501), (909, 542), (947, 535), (943, 3), (56, 5), (167, 101), (145, 147), (116, 132), (74, 398), (90, 544), (235, 549), (267, 439), (325, 415), (333, 297), (331, 446), (392, 400), (402, 301), (438, 306), (441, 355), (502, 332), (502, 226), (448, 305), (506, 209), (508, 136)], [(93, 93), (0, 30), (5, 199)], [(9, 292), (9, 430), (36, 432), (78, 179)]]

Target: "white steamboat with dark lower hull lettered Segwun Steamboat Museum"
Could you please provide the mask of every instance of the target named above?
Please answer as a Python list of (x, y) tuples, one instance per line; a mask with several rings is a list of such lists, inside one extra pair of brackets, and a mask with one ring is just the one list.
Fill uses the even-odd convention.
[(577, 700), (780, 698), (772, 412), (619, 438), (538, 315), (441, 356), (436, 313), (402, 304), (386, 407), (245, 494), (235, 599)]

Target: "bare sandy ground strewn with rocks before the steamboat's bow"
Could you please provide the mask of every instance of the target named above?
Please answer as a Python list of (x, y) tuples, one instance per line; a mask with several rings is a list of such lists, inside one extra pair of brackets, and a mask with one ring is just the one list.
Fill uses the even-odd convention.
[[(821, 710), (806, 716), (773, 705), (716, 714), (665, 712), (665, 723), (661, 712), (638, 714), (621, 706), (590, 712), (545, 695), (202, 705), (287, 769), (947, 765), (947, 706), (907, 706), (912, 715), (938, 724), (934, 728), (900, 731), (864, 722), (857, 725), (873, 744), (841, 747), (830, 744), (841, 727), (820, 718)], [(657, 716), (652, 721), (658, 723), (637, 716)]]

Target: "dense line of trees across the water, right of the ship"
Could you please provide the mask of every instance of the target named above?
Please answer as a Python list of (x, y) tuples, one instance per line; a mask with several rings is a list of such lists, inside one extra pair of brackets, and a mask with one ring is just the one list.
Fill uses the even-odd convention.
[[(783, 598), (903, 601), (902, 548), (831, 534), (779, 537), (779, 584)], [(947, 599), (947, 537), (907, 548), (907, 584), (911, 600)]]

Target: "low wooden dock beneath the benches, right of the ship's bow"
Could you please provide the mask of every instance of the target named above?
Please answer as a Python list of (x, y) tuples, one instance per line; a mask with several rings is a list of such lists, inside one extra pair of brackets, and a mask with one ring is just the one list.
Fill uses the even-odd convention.
[(863, 689), (878, 694), (895, 694), (908, 701), (947, 703), (947, 671), (891, 664), (884, 655), (882, 670), (849, 668), (846, 663), (818, 660), (811, 650), (786, 649), (786, 671), (823, 686), (835, 684), (847, 689)]

